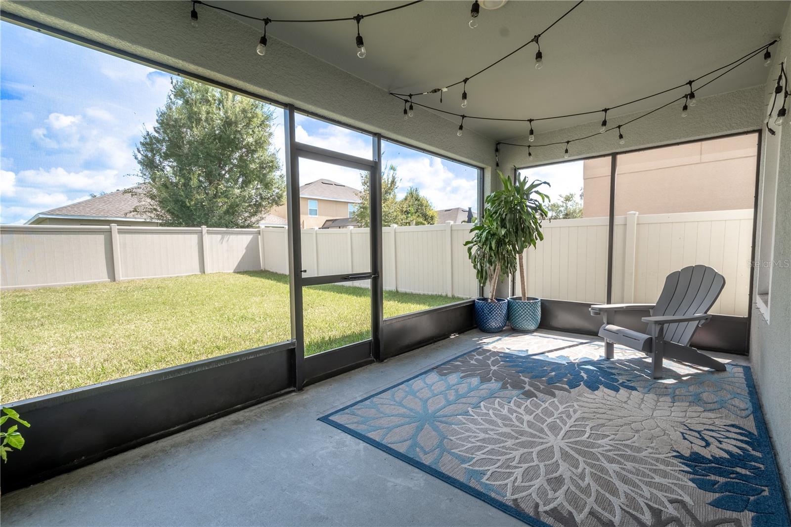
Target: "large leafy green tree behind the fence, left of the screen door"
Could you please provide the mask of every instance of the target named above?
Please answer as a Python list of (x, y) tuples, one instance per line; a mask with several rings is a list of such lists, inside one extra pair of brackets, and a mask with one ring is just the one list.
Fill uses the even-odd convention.
[(167, 226), (241, 228), (283, 203), (273, 114), (257, 100), (187, 79), (171, 82), (134, 153), (145, 184), (134, 212)]

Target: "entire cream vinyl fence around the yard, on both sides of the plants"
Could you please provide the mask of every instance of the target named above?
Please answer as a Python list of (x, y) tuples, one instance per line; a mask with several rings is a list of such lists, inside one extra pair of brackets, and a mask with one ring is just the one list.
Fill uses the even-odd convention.
[[(725, 290), (712, 312), (746, 316), (752, 212), (616, 217), (613, 301), (656, 301), (668, 273), (707, 264), (725, 275)], [(475, 271), (464, 247), (470, 227), (385, 227), (384, 288), (477, 296)], [(262, 269), (286, 274), (287, 247), (288, 230), (277, 227), (2, 226), (0, 286), (33, 288)], [(607, 218), (544, 222), (544, 241), (526, 252), (525, 263), (531, 296), (605, 301)], [(302, 268), (305, 276), (369, 271), (369, 230), (302, 229)]]

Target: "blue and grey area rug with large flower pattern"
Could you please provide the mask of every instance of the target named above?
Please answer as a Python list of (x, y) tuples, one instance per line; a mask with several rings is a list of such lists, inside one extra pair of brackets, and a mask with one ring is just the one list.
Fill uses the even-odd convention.
[(748, 366), (602, 351), (481, 347), (320, 420), (528, 525), (789, 525)]

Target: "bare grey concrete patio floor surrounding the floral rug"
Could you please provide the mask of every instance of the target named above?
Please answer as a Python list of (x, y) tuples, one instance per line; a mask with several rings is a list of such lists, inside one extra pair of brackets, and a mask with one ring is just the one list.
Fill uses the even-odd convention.
[(540, 353), (591, 339), (467, 332), (4, 495), (0, 521), (524, 525), (316, 419), (483, 343)]

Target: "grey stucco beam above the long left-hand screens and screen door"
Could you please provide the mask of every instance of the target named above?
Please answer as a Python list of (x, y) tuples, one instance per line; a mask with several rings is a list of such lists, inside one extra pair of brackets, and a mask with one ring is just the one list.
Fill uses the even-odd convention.
[(387, 91), (269, 37), (265, 58), (253, 51), (259, 30), (210, 9), (192, 28), (188, 2), (2, 2), (41, 24), (165, 63), (318, 115), (379, 132), (485, 169), (489, 188), (494, 141), (423, 108), (404, 120)]

